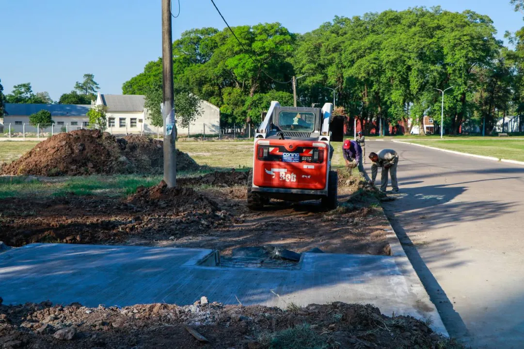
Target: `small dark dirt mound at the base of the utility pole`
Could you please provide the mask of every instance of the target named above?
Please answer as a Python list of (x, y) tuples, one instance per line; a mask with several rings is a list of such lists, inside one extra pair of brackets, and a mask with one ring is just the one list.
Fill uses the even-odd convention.
[(138, 187), (136, 193), (128, 198), (128, 202), (140, 208), (169, 208), (177, 212), (214, 213), (219, 205), (212, 199), (196, 192), (193, 188), (168, 188), (165, 181), (158, 186)]

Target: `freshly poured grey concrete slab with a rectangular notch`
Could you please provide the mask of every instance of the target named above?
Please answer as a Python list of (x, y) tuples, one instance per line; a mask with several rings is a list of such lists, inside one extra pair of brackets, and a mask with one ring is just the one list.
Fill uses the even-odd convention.
[[(405, 255), (304, 254), (295, 270), (199, 266), (209, 249), (31, 244), (0, 254), (5, 304), (80, 302), (128, 306), (213, 302), (286, 307), (294, 302), (371, 303), (386, 315), (440, 316)], [(214, 260), (214, 258), (212, 258)], [(280, 297), (276, 296), (277, 293)]]

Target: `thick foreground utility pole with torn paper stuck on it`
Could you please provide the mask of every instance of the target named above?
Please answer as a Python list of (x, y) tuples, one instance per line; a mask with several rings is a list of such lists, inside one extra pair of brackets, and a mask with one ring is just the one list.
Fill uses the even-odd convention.
[[(177, 158), (174, 141), (173, 102), (173, 38), (171, 32), (171, 0), (162, 0), (162, 119), (164, 125), (164, 181), (169, 188), (177, 186)], [(175, 134), (173, 134), (175, 133)]]

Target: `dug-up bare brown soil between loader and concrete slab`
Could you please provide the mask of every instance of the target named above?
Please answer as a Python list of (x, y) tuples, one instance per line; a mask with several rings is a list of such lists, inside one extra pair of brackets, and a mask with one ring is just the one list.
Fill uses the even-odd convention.
[[(246, 172), (215, 172), (182, 178), (177, 188), (163, 181), (139, 187), (127, 198), (71, 193), (1, 199), (0, 241), (213, 248), (224, 255), (266, 245), (298, 253), (318, 247), (326, 253), (390, 254), (386, 217), (379, 207), (360, 202), (353, 189), (341, 187), (335, 211), (322, 211), (318, 202), (276, 201), (253, 212), (245, 206), (246, 178)], [(191, 187), (202, 183), (213, 185)]]

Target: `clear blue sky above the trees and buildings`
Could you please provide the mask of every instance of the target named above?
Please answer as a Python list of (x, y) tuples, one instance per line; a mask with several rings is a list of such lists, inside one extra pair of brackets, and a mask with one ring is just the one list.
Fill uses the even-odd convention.
[[(173, 12), (178, 2), (173, 0)], [(184, 30), (224, 28), (210, 0), (180, 0), (173, 39)], [(524, 26), (509, 0), (215, 0), (230, 25), (280, 22), (292, 32), (318, 28), (335, 15), (356, 16), (414, 6), (490, 16), (503, 38)], [(257, 5), (254, 5), (254, 4)], [(261, 4), (261, 5), (258, 5)], [(102, 93), (122, 93), (122, 83), (161, 56), (160, 0), (0, 0), (0, 79), (4, 93), (31, 82), (53, 100), (93, 73)]]

